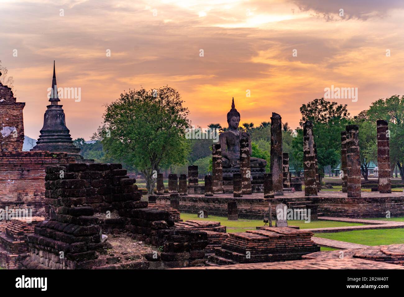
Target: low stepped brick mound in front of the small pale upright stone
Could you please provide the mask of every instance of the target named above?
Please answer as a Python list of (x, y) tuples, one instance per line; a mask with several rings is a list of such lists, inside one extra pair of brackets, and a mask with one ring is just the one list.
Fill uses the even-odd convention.
[[(209, 261), (223, 264), (221, 259), (233, 263), (255, 263), (302, 259), (302, 255), (320, 251), (311, 240), (313, 233), (288, 227), (262, 227), (260, 230), (229, 233)], [(217, 262), (217, 258), (220, 258)], [(226, 263), (227, 264), (227, 263)]]

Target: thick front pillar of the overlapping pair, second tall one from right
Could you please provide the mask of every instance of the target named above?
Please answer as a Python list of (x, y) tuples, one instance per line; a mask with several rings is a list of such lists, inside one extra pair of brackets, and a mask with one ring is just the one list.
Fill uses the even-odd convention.
[(347, 136), (348, 197), (360, 197), (359, 127), (358, 125), (348, 125), (345, 130)]

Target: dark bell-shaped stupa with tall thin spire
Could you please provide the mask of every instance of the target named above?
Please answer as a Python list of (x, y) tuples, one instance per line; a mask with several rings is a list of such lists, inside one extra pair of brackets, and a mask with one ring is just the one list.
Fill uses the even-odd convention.
[(57, 95), (55, 61), (53, 62), (52, 91), (49, 101), (50, 105), (46, 106), (47, 110), (44, 115), (44, 126), (40, 131), (41, 135), (31, 151), (64, 152), (82, 159), (80, 149), (74, 145), (70, 131), (66, 127), (63, 105), (58, 104), (60, 99)]

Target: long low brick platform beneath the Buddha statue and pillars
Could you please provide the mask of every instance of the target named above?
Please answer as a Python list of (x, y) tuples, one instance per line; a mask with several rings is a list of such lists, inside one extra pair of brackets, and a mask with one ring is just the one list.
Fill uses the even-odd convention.
[[(158, 203), (169, 204), (168, 195), (153, 195)], [(307, 204), (317, 204), (318, 213), (330, 217), (385, 217), (390, 211), (394, 217), (404, 215), (404, 194), (379, 192), (362, 192), (362, 197), (348, 198), (342, 192), (319, 192), (318, 196), (305, 196), (304, 192), (284, 192), (282, 197), (264, 198), (263, 193), (252, 193), (242, 198), (234, 198), (231, 194), (216, 194), (206, 197), (188, 194), (179, 198), (179, 211), (198, 213), (206, 210), (211, 215), (227, 216), (227, 202), (236, 201), (238, 217), (242, 219), (263, 219), (267, 215), (268, 204), (272, 203), (272, 215), (275, 206), (286, 202), (289, 208), (306, 208)]]

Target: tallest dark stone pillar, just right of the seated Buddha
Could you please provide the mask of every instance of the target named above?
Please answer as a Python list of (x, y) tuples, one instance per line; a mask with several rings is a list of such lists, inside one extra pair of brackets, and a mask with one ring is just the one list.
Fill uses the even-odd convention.
[(275, 196), (283, 195), (282, 118), (271, 116), (271, 173)]

